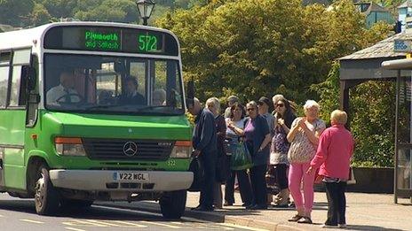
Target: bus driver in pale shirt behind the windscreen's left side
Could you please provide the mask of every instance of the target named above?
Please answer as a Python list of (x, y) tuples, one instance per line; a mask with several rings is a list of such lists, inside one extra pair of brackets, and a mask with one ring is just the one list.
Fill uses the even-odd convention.
[(47, 104), (72, 104), (82, 101), (75, 88), (75, 76), (73, 71), (63, 71), (59, 75), (59, 85), (48, 90), (46, 94)]

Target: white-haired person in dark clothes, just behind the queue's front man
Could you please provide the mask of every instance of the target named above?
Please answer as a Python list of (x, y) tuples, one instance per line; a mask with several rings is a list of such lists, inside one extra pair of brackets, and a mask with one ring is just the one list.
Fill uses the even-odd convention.
[(215, 125), (218, 135), (218, 158), (216, 163), (216, 179), (213, 187), (213, 204), (215, 208), (222, 208), (222, 183), (226, 181), (226, 151), (225, 151), (225, 137), (226, 137), (226, 122), (225, 118), (220, 115), (220, 103), (218, 98), (211, 97), (206, 101), (206, 107), (215, 116)]

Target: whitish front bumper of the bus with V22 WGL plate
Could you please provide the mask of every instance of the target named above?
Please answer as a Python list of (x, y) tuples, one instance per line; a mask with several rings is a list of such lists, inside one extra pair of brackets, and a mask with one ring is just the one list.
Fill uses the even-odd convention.
[(49, 171), (54, 187), (85, 191), (161, 192), (189, 189), (192, 172), (64, 170)]

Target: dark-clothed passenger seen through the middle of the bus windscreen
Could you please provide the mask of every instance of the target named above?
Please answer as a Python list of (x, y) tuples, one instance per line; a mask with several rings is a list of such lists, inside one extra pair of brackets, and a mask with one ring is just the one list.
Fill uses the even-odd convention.
[(119, 104), (137, 104), (144, 105), (146, 104), (146, 99), (144, 96), (140, 95), (138, 92), (139, 82), (138, 79), (134, 76), (130, 76), (125, 79), (125, 93), (119, 96)]

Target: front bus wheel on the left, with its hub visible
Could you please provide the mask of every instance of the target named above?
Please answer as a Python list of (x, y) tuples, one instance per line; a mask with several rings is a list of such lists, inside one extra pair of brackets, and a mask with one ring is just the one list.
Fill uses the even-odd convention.
[(49, 169), (40, 165), (36, 174), (36, 212), (39, 215), (54, 215), (59, 210), (59, 194), (50, 181)]

